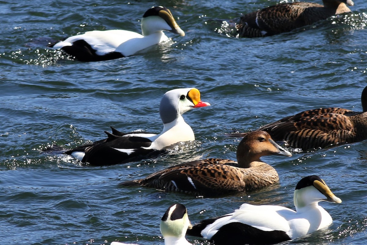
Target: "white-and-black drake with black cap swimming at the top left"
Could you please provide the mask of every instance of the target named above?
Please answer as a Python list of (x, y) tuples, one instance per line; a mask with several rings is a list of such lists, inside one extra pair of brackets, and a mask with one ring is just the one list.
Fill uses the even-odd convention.
[(103, 61), (130, 56), (166, 41), (164, 30), (185, 36), (170, 10), (162, 6), (145, 12), (141, 29), (143, 35), (129, 30), (92, 30), (49, 44), (49, 47), (61, 48), (79, 61)]

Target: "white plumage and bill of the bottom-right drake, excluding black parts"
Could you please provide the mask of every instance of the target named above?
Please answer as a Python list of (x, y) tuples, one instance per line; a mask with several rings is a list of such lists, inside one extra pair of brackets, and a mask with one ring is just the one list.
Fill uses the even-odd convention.
[[(321, 191), (328, 193), (327, 196)], [(235, 212), (206, 226), (201, 235), (211, 239), (225, 224), (240, 222), (263, 231), (284, 231), (290, 239), (304, 237), (333, 223), (329, 213), (319, 206), (320, 201), (341, 203), (341, 199), (335, 197), (326, 184), (321, 191), (314, 185), (295, 190), (294, 205), (297, 211), (282, 206), (245, 203)]]

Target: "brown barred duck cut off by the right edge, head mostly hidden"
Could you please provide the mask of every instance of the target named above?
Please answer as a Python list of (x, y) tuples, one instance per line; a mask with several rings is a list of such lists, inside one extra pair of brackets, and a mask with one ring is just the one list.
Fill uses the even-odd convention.
[[(275, 141), (306, 151), (367, 139), (367, 86), (361, 95), (363, 112), (344, 108), (319, 108), (299, 112), (257, 130), (267, 131)], [(230, 136), (241, 136), (230, 134)]]

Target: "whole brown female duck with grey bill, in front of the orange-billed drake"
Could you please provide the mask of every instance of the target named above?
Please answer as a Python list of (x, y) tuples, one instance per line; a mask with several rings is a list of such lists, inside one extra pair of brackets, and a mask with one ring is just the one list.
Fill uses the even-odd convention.
[[(237, 148), (237, 162), (210, 158), (178, 164), (150, 174), (145, 179), (126, 181), (123, 186), (146, 186), (165, 191), (216, 196), (249, 191), (279, 181), (276, 170), (261, 156), (291, 153), (276, 144), (265, 131), (245, 134)], [(231, 166), (232, 165), (232, 166)]]

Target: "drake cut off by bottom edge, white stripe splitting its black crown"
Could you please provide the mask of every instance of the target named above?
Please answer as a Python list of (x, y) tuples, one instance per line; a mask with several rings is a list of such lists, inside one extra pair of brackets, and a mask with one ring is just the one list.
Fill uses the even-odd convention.
[[(185, 238), (186, 230), (192, 225), (185, 206), (180, 203), (171, 205), (160, 222), (160, 231), (164, 237), (164, 245), (192, 245)], [(136, 245), (111, 242), (111, 245)]]

